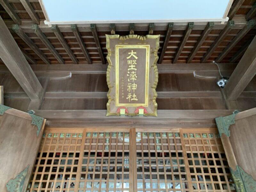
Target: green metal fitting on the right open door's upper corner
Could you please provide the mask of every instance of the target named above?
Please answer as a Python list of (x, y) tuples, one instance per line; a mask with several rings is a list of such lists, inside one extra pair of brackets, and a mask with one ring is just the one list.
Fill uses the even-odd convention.
[(229, 129), (230, 125), (235, 124), (235, 116), (236, 116), (236, 114), (232, 114), (232, 115), (225, 116), (225, 117), (215, 118), (220, 137), (221, 137), (222, 133), (224, 133), (225, 135), (230, 137), (230, 131), (228, 129)]

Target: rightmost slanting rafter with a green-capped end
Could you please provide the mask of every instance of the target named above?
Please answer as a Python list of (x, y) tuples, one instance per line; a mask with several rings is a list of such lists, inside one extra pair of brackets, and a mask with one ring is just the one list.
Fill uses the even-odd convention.
[(236, 44), (255, 26), (256, 21), (250, 20), (246, 26), (235, 36), (234, 39), (228, 44), (228, 46), (220, 53), (215, 60), (217, 63), (221, 62), (224, 57), (236, 46)]

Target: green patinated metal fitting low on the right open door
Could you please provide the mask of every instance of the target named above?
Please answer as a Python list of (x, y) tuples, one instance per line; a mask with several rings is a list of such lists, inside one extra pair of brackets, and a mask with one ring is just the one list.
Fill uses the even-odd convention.
[(256, 181), (251, 175), (246, 173), (240, 166), (236, 165), (236, 170), (230, 168), (232, 174), (236, 191), (237, 192), (255, 192), (256, 191)]

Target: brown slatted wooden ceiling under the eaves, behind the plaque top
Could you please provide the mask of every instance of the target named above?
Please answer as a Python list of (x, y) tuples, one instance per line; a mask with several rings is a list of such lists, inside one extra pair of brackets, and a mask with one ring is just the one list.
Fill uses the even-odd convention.
[[(40, 30), (57, 51), (57, 55), (59, 54), (65, 61), (65, 64), (75, 63), (74, 58), (72, 60), (72, 56), (70, 56), (70, 54), (75, 55), (75, 60), (78, 61), (77, 63), (88, 64), (86, 55), (81, 49), (81, 44), (79, 44), (77, 41), (75, 32), (72, 31), (71, 25), (58, 26), (60, 29), (60, 36), (62, 35), (68, 44), (67, 48), (63, 46), (63, 41), (61, 42), (60, 37), (58, 38), (56, 36), (56, 31), (54, 32), (49, 26), (44, 25), (43, 21), (45, 20), (45, 17), (38, 0), (27, 1), (31, 6), (26, 6), (26, 9), (23, 6), (24, 2), (26, 2), (26, 0), (0, 0), (0, 15), (10, 29), (17, 44), (23, 48), (23, 52), (25, 54), (28, 54), (27, 58), (29, 56), (32, 57), (30, 58), (31, 60), (29, 60), (30, 63), (45, 64), (45, 62), (42, 60), (42, 57), (40, 58), (38, 53), (35, 52), (33, 46), (22, 40), (20, 36), (12, 30), (12, 24), (15, 24), (15, 22), (6, 12), (7, 10), (4, 9), (4, 4), (11, 5), (11, 9), (17, 13), (19, 19), (22, 21), (19, 28), (25, 33), (26, 36), (29, 37), (30, 40), (32, 40), (32, 44), (36, 45), (39, 50), (43, 52), (43, 55), (48, 60), (50, 60), (50, 64), (60, 64), (60, 62), (56, 59), (56, 54), (54, 55), (52, 51), (47, 48), (45, 42), (43, 43), (35, 33), (35, 30), (32, 29), (32, 25), (36, 23), (35, 17), (40, 20)], [(193, 59), (190, 60), (191, 63), (208, 63), (212, 62), (212, 60), (217, 60), (218, 62), (222, 63), (238, 62), (248, 47), (249, 43), (252, 41), (252, 38), (256, 35), (255, 27), (246, 29), (246, 24), (248, 21), (253, 19), (255, 16), (256, 6), (253, 6), (255, 3), (256, 0), (234, 1), (229, 12), (230, 20), (235, 21), (235, 26), (233, 26), (231, 29), (227, 29), (227, 23), (216, 23), (212, 27), (212, 30), (207, 33), (205, 29), (207, 28), (207, 23), (195, 23), (195, 26), (191, 31), (187, 30), (187, 23), (175, 23), (172, 30), (169, 29), (169, 34), (171, 34), (170, 38), (165, 40), (168, 30), (168, 23), (155, 23), (153, 34), (161, 35), (160, 49), (158, 53), (159, 57), (161, 54), (163, 54), (162, 63), (187, 63), (188, 58), (190, 55), (192, 55), (192, 53)], [(28, 10), (29, 7), (30, 10)], [(36, 16), (31, 16), (31, 12), (34, 12)], [(31, 19), (32, 17), (34, 17), (33, 20)], [(147, 35), (148, 28), (148, 23), (135, 24), (134, 34)], [(82, 38), (82, 42), (84, 42), (86, 50), (89, 52), (89, 57), (92, 60), (92, 63), (104, 63), (102, 62), (100, 53), (101, 50), (103, 53), (104, 61), (106, 62), (107, 50), (105, 34), (111, 34), (109, 24), (96, 24), (98, 36), (95, 36), (95, 34), (92, 33), (93, 30), (88, 24), (77, 25), (77, 29), (80, 32), (80, 36)], [(116, 24), (115, 29), (116, 34), (130, 34), (129, 23)], [(205, 36), (202, 37), (204, 34)], [(99, 38), (99, 46), (97, 46), (97, 38)], [(165, 41), (166, 46), (164, 46)], [(163, 47), (166, 48), (164, 51)], [(70, 50), (71, 53), (69, 52)], [(220, 53), (222, 53), (224, 50), (225, 54), (222, 57), (219, 57)]]

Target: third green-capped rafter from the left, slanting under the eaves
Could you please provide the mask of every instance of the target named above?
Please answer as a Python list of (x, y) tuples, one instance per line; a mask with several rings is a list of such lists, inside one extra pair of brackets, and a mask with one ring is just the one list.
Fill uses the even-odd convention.
[(68, 53), (68, 56), (70, 57), (70, 59), (75, 63), (78, 64), (78, 60), (76, 59), (76, 56), (74, 55), (74, 53), (71, 51), (67, 41), (65, 40), (65, 38), (63, 37), (62, 33), (60, 32), (60, 29), (57, 25), (52, 25), (51, 27), (52, 31), (54, 32), (55, 36), (58, 38), (58, 40), (60, 41), (60, 44), (63, 46), (63, 48), (65, 49), (65, 51)]

